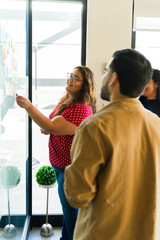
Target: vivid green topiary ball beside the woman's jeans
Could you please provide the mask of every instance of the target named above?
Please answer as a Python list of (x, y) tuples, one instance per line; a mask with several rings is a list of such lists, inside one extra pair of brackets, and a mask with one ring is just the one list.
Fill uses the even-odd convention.
[(40, 185), (51, 185), (56, 180), (56, 173), (52, 166), (42, 166), (36, 173), (36, 182)]

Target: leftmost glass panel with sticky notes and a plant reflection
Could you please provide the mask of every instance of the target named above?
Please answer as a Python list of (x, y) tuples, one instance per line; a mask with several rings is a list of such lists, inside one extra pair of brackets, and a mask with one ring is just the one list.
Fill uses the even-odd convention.
[[(0, 239), (22, 239), (26, 220), (26, 1), (0, 0)], [(11, 236), (10, 236), (11, 234)]]

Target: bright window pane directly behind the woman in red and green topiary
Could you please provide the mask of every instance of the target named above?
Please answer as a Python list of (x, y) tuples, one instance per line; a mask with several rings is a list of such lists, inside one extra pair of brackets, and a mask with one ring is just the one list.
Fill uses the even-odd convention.
[[(32, 2), (33, 103), (45, 115), (65, 93), (67, 73), (81, 65), (82, 3), (76, 1)], [(46, 191), (39, 188), (35, 173), (50, 165), (48, 136), (33, 123), (33, 214), (45, 214)], [(57, 189), (50, 190), (49, 213), (61, 214)]]

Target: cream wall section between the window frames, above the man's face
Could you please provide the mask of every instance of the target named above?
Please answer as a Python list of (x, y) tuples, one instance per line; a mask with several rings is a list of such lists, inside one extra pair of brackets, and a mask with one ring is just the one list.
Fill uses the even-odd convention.
[(131, 47), (133, 0), (88, 0), (87, 66), (96, 78), (98, 109), (105, 63), (116, 50)]

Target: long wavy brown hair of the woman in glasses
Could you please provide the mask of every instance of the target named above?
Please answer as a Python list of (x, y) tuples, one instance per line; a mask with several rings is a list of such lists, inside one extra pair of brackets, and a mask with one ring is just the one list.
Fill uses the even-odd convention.
[(60, 115), (69, 105), (81, 102), (91, 105), (93, 113), (96, 112), (96, 90), (93, 72), (86, 66), (77, 66), (74, 70), (78, 70), (82, 74), (82, 88), (75, 97), (71, 97), (69, 93), (66, 93), (54, 116)]

